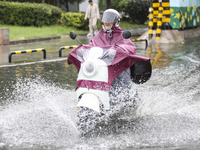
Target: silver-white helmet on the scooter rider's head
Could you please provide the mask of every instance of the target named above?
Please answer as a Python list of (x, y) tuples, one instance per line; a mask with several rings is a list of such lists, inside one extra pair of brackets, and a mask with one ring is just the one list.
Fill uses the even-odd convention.
[(115, 9), (107, 9), (104, 13), (103, 13), (103, 17), (102, 17), (102, 25), (104, 23), (113, 23), (113, 26), (109, 27), (109, 28), (105, 28), (103, 25), (103, 29), (107, 32), (112, 32), (113, 31), (113, 27), (117, 27), (119, 25), (119, 21), (120, 21), (120, 15), (118, 13), (118, 11), (116, 11)]

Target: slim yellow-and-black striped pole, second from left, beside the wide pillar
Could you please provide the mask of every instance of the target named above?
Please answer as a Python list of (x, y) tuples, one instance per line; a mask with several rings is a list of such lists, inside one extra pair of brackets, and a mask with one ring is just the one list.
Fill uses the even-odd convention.
[(159, 40), (161, 36), (161, 28), (162, 28), (162, 17), (163, 17), (163, 7), (162, 7), (162, 0), (159, 0), (159, 12), (158, 12), (158, 22), (157, 22), (157, 29), (156, 29), (156, 39)]

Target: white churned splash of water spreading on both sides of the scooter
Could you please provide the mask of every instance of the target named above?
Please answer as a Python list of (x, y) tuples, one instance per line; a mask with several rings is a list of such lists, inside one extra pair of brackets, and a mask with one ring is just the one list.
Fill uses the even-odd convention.
[(79, 138), (74, 128), (75, 92), (39, 78), (20, 79), (0, 106), (0, 148), (195, 147), (200, 143), (200, 66), (183, 55), (175, 57), (171, 66), (154, 69), (152, 78), (137, 87), (136, 113), (108, 120), (92, 138)]

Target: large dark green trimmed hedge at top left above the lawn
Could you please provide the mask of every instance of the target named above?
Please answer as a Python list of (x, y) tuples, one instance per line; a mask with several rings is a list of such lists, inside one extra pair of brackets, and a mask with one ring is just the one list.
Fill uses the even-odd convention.
[(0, 2), (0, 23), (19, 26), (56, 24), (62, 10), (48, 4)]

